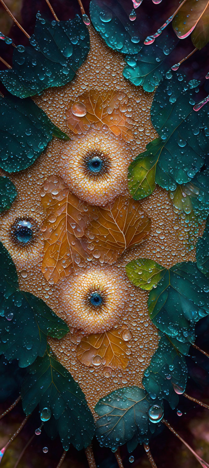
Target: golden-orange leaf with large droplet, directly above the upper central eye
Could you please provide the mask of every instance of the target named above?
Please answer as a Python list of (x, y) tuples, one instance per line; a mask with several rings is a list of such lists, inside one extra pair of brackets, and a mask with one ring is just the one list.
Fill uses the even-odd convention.
[(107, 125), (115, 136), (132, 141), (132, 121), (125, 115), (127, 96), (119, 91), (100, 95), (94, 89), (70, 101), (66, 111), (67, 124), (74, 133), (86, 133), (92, 123)]

